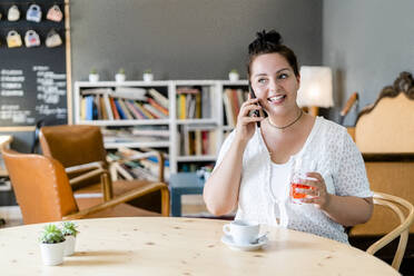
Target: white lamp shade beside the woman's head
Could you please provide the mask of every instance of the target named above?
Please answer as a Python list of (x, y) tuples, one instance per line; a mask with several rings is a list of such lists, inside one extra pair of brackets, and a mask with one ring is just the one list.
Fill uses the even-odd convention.
[(300, 67), (299, 107), (333, 107), (332, 70), (329, 67)]

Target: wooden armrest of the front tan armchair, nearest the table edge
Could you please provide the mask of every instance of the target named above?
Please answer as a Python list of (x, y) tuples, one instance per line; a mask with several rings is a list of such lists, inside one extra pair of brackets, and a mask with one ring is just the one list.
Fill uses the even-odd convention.
[(162, 206), (161, 206), (162, 211), (161, 213), (162, 213), (162, 216), (168, 216), (169, 215), (169, 190), (168, 190), (168, 187), (165, 183), (151, 183), (151, 184), (148, 184), (145, 187), (136, 188), (134, 190), (130, 190), (130, 191), (124, 194), (122, 196), (119, 196), (119, 197), (112, 198), (108, 201), (105, 201), (103, 204), (99, 204), (99, 205), (96, 205), (93, 207), (82, 209), (82, 210), (80, 210), (76, 214), (65, 216), (62, 219), (63, 220), (71, 220), (71, 219), (83, 218), (88, 215), (105, 210), (107, 208), (117, 206), (119, 204), (130, 201), (130, 200), (132, 200), (137, 197), (141, 197), (144, 195), (150, 194), (150, 193), (156, 191), (156, 190), (161, 191), (161, 197), (162, 197)]

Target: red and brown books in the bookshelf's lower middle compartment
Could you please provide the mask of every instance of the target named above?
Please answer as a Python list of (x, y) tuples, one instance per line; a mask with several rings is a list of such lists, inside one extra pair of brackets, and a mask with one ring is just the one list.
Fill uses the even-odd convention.
[(180, 156), (216, 155), (216, 131), (183, 126), (179, 136), (177, 151)]

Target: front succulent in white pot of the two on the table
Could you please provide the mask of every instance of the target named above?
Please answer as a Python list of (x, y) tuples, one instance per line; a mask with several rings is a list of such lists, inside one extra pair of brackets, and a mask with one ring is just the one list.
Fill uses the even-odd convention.
[(56, 225), (45, 226), (39, 240), (45, 265), (56, 266), (63, 263), (65, 235)]

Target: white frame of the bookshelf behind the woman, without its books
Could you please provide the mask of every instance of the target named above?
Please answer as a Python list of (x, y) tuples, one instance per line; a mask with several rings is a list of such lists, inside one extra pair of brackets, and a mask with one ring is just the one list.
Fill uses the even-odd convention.
[[(77, 125), (95, 125), (102, 128), (106, 127), (132, 127), (132, 126), (168, 126), (169, 139), (167, 141), (106, 141), (107, 149), (116, 149), (118, 147), (129, 148), (165, 148), (169, 154), (170, 171), (178, 171), (179, 165), (183, 162), (214, 162), (217, 158), (218, 150), (223, 144), (225, 132), (230, 131), (233, 127), (224, 126), (224, 103), (223, 95), (226, 88), (244, 88), (247, 90), (247, 80), (228, 81), (228, 80), (162, 80), (162, 81), (76, 81), (73, 91), (73, 116), (75, 124)], [(92, 88), (112, 88), (130, 87), (130, 88), (161, 88), (167, 91), (169, 99), (169, 117), (168, 119), (125, 119), (125, 120), (82, 120), (80, 118), (80, 101), (81, 91)], [(209, 118), (185, 118), (179, 119), (177, 109), (177, 97), (183, 88), (198, 88), (200, 93), (208, 92), (209, 95)], [(166, 96), (167, 96), (166, 95)], [(204, 105), (201, 102), (201, 105)], [(207, 130), (213, 131), (215, 145), (213, 146), (214, 152), (208, 155), (183, 155), (179, 151), (180, 145), (180, 130), (188, 129), (189, 131)]]

